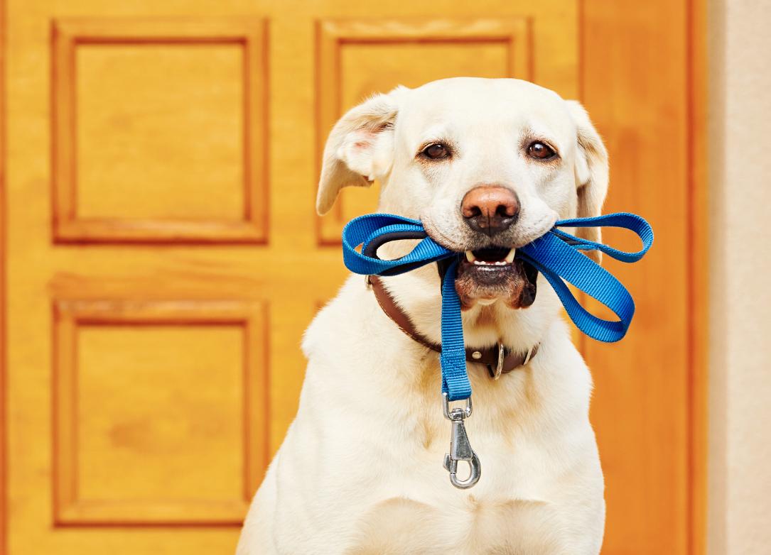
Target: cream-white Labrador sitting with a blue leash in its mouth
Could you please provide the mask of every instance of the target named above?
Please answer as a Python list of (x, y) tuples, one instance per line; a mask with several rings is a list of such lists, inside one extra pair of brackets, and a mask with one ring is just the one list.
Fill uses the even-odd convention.
[[(483, 472), (473, 488), (456, 489), (442, 464), (451, 425), (439, 355), (351, 276), (305, 333), (298, 413), (237, 555), (599, 553), (604, 480), (588, 417), (591, 375), (554, 290), (513, 259), (557, 219), (600, 214), (608, 154), (587, 112), (517, 79), (399, 86), (332, 129), (318, 212), (343, 187), (375, 180), (380, 212), (420, 219), (436, 242), (466, 253), (455, 283), (466, 346), (500, 342), (529, 356), (500, 379), (467, 363), (466, 430)], [(574, 232), (600, 239), (596, 228)], [(379, 255), (414, 244), (389, 243)], [(379, 283), (415, 333), (441, 343), (436, 264)]]

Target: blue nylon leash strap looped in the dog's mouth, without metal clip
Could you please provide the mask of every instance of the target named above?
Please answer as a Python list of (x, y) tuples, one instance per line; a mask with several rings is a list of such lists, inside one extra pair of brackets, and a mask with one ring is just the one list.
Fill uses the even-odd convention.
[[(637, 252), (625, 252), (599, 242), (579, 239), (557, 227), (619, 227), (629, 229), (642, 241)], [(389, 236), (410, 236), (422, 238), (409, 254), (395, 260), (382, 260), (363, 254), (367, 246), (376, 245), (380, 240), (387, 242)], [(620, 212), (594, 218), (564, 219), (556, 223), (544, 236), (517, 249), (517, 257), (530, 262), (554, 288), (567, 315), (578, 329), (593, 339), (614, 342), (625, 336), (635, 302), (623, 285), (602, 266), (581, 254), (582, 250), (599, 250), (621, 262), (637, 262), (653, 243), (653, 229), (650, 224), (635, 214)], [(356, 247), (361, 245), (362, 252)], [(455, 257), (447, 269), (442, 285), (442, 391), (449, 400), (464, 400), (471, 396), (471, 384), (466, 374), (466, 346), (463, 342), (463, 323), (460, 316), (460, 299), (455, 290), (455, 278), (459, 253), (453, 252), (434, 242), (419, 220), (370, 214), (359, 216), (348, 222), (342, 232), (343, 260), (352, 272), (379, 276), (394, 276), (409, 272), (417, 266)], [(584, 309), (568, 289), (571, 283), (608, 306), (618, 320), (605, 320)]]

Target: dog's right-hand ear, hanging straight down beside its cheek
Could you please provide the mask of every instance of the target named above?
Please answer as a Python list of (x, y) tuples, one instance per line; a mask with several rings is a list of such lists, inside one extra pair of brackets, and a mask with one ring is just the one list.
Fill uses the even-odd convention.
[[(608, 151), (581, 103), (568, 100), (567, 107), (576, 124), (577, 216), (579, 218), (599, 216), (602, 203), (608, 194)], [(576, 235), (596, 242), (602, 239), (598, 227), (577, 228)], [(599, 251), (588, 251), (587, 254), (596, 262), (602, 259), (602, 253)]]

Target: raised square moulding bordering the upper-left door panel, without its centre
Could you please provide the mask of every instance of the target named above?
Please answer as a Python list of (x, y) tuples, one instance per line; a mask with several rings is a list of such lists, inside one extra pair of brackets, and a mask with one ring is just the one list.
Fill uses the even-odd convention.
[[(238, 45), (243, 53), (241, 69), (241, 215), (234, 218), (154, 217), (79, 214), (79, 114), (89, 105), (78, 101), (76, 55), (84, 45)], [(191, 53), (195, 50), (191, 50)], [(62, 18), (52, 23), (52, 225), (57, 242), (251, 242), (268, 240), (267, 155), (267, 23), (260, 18)], [(190, 92), (194, 92), (191, 90)], [(157, 94), (162, 94), (158, 91)], [(177, 105), (182, 105), (178, 99)], [(145, 110), (152, 110), (146, 106)], [(216, 112), (217, 106), (208, 108)], [(125, 119), (125, 117), (123, 118)], [(113, 125), (126, 127), (128, 122)], [(212, 125), (207, 125), (212, 131)], [(202, 134), (208, 134), (202, 130)], [(180, 135), (177, 135), (180, 136)], [(149, 137), (148, 137), (149, 138)], [(101, 138), (103, 141), (106, 137)], [(141, 138), (137, 138), (141, 140)], [(192, 139), (180, 136), (180, 139)], [(98, 139), (95, 139), (98, 140)], [(165, 161), (173, 164), (173, 158)], [(187, 162), (189, 165), (190, 162)], [(184, 162), (177, 171), (184, 171)], [(204, 166), (205, 167), (205, 166)], [(199, 170), (200, 172), (200, 170)], [(137, 176), (137, 179), (140, 179)], [(192, 176), (195, 179), (195, 176)], [(161, 195), (164, 183), (155, 184)], [(205, 193), (204, 193), (205, 194)], [(207, 191), (210, 206), (216, 206), (218, 191)], [(124, 203), (136, 196), (127, 196)], [(184, 198), (157, 199), (161, 206), (182, 203)]]

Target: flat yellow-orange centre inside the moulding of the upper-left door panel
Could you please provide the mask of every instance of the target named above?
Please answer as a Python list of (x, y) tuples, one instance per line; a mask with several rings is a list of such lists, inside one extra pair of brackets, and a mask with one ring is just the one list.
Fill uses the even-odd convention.
[(79, 218), (241, 218), (241, 45), (86, 43), (75, 56)]

